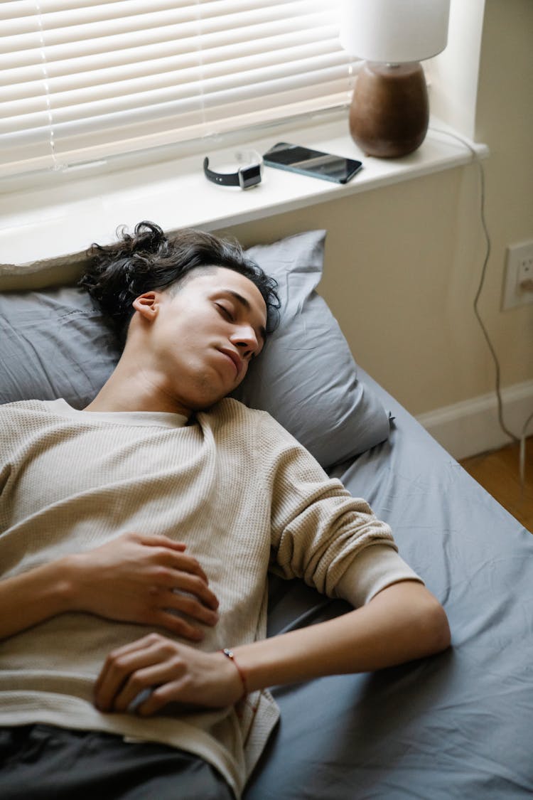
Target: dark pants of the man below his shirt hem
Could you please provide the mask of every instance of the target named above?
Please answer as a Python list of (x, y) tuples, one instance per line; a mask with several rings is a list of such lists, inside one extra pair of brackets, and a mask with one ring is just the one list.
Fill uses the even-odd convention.
[(50, 725), (0, 728), (2, 800), (233, 800), (202, 758)]

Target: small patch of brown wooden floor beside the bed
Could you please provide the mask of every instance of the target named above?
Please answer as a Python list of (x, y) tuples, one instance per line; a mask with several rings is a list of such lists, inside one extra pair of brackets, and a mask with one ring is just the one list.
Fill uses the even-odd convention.
[(524, 486), (520, 486), (519, 445), (463, 458), (461, 465), (492, 497), (533, 533), (533, 436), (526, 441)]

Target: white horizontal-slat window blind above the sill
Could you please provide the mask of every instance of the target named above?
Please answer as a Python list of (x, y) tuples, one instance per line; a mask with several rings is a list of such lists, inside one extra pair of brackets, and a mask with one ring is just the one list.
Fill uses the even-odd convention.
[(0, 2), (0, 174), (348, 102), (337, 0)]

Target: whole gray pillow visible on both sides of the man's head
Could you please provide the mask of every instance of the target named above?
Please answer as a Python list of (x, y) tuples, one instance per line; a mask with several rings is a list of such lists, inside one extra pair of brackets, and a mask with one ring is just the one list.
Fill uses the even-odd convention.
[[(252, 247), (279, 282), (280, 325), (235, 393), (267, 410), (324, 467), (388, 437), (388, 414), (356, 364), (316, 286), (324, 231)], [(66, 399), (83, 408), (119, 358), (113, 331), (75, 286), (0, 294), (0, 402)]]

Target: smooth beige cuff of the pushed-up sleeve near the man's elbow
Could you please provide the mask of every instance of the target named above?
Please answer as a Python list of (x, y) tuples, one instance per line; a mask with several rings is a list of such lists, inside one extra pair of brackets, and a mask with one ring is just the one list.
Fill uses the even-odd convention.
[(336, 584), (335, 593), (337, 597), (348, 600), (354, 608), (359, 608), (386, 586), (400, 581), (418, 581), (424, 584), (422, 578), (391, 546), (369, 545), (354, 558)]

